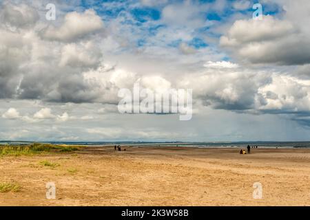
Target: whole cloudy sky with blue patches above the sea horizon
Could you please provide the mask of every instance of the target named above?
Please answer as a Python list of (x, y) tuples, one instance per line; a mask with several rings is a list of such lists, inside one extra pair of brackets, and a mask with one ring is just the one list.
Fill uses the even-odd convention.
[[(309, 140), (309, 12), (307, 0), (0, 0), (0, 140)], [(192, 89), (192, 119), (119, 113), (118, 91), (137, 82)]]

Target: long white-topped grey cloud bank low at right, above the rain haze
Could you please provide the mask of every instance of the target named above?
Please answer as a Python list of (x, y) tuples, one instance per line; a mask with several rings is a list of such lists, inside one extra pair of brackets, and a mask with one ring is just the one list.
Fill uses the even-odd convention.
[(229, 62), (207, 62), (205, 70), (180, 79), (192, 87), (194, 102), (214, 109), (242, 113), (310, 114), (308, 79), (281, 72), (238, 67)]

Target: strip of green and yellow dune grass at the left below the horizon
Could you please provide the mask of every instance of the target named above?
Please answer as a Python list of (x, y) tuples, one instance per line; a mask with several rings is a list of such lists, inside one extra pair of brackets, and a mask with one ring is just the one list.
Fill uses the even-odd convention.
[(0, 155), (33, 155), (35, 153), (78, 151), (81, 146), (34, 143), (29, 145), (0, 145)]

